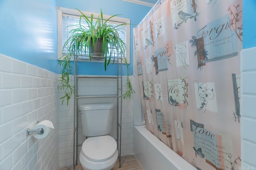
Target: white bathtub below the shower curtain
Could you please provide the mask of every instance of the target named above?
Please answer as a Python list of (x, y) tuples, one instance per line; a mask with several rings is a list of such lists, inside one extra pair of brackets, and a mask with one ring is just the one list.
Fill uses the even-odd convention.
[(197, 170), (167, 147), (145, 125), (134, 125), (134, 155), (143, 170)]

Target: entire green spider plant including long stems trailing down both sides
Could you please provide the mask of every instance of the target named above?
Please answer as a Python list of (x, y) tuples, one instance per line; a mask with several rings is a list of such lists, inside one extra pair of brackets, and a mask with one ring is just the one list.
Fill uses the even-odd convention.
[[(61, 99), (62, 104), (66, 99), (67, 105), (74, 92), (74, 86), (70, 85), (69, 82), (69, 75), (73, 75), (73, 67), (70, 60), (74, 55), (89, 55), (91, 60), (93, 57), (92, 50), (96, 48), (98, 41), (102, 41), (102, 57), (104, 58), (104, 68), (106, 70), (111, 61), (114, 63), (116, 57), (125, 56), (126, 51), (126, 43), (120, 38), (118, 31), (122, 32), (122, 28), (119, 27), (120, 25), (128, 23), (121, 23), (119, 25), (109, 24), (107, 22), (118, 15), (110, 16), (110, 18), (104, 20), (102, 10), (100, 10), (100, 15), (96, 20), (93, 14), (88, 18), (82, 11), (78, 11), (81, 13), (79, 24), (68, 26), (72, 27), (72, 29), (68, 31), (69, 37), (63, 46), (63, 49), (67, 49), (68, 52), (62, 56), (62, 61), (58, 63), (62, 68), (62, 75), (58, 79), (58, 89), (64, 90), (65, 93)], [(86, 26), (82, 24), (83, 20), (86, 21)], [(129, 79), (127, 60), (125, 57), (121, 57), (121, 59), (127, 67), (126, 92), (122, 96), (125, 100), (131, 98), (134, 90)]]

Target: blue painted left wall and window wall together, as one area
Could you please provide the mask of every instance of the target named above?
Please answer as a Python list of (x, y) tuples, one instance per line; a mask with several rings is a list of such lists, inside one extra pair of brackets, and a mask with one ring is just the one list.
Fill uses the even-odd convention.
[[(0, 54), (60, 73), (57, 67), (57, 6), (94, 13), (100, 13), (101, 8), (106, 15), (122, 14), (136, 25), (151, 9), (121, 0), (0, 0)], [(113, 67), (105, 72), (103, 63), (80, 63), (79, 68), (81, 74), (116, 74)], [(130, 74), (132, 72), (130, 64)]]

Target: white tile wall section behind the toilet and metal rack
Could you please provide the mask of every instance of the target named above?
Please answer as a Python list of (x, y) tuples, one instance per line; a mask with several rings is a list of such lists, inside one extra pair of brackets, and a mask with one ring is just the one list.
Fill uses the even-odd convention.
[[(130, 76), (131, 83), (133, 83), (133, 76)], [(126, 77), (123, 76), (123, 92), (126, 87)], [(78, 95), (100, 95), (100, 94), (116, 94), (117, 82), (116, 79), (98, 79), (86, 78), (79, 79), (79, 94)], [(60, 93), (59, 97), (62, 97)], [(73, 158), (73, 109), (74, 99), (70, 99), (68, 106), (64, 102), (59, 101), (59, 158), (60, 167), (72, 165)], [(89, 103), (114, 103), (114, 118), (112, 124), (112, 133), (110, 134), (114, 139), (117, 139), (117, 98), (91, 98), (79, 99), (78, 104)], [(133, 101), (124, 100), (122, 102), (122, 146), (121, 155), (133, 154)], [(81, 115), (78, 115), (78, 145), (82, 145), (85, 137), (82, 135)], [(81, 146), (78, 147), (78, 156), (80, 154)], [(78, 161), (79, 162), (79, 161)]]

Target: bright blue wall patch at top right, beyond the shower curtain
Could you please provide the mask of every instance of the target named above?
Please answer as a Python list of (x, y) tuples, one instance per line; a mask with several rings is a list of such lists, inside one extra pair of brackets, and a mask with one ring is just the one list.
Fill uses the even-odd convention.
[(243, 0), (243, 46), (256, 47), (256, 0)]

